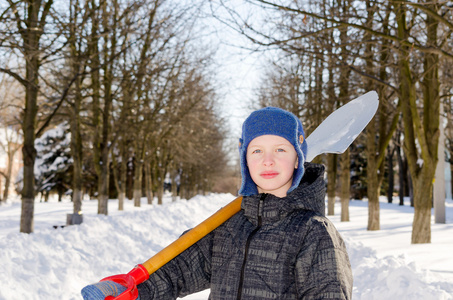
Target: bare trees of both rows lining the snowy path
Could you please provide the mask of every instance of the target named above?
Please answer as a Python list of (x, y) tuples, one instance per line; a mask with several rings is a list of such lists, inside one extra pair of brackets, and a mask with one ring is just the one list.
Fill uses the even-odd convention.
[[(450, 2), (246, 2), (250, 11), (238, 10), (234, 1), (209, 1), (209, 6), (223, 24), (253, 42), (252, 50), (271, 53), (258, 92), (261, 104), (293, 111), (309, 134), (335, 108), (376, 90), (380, 108), (361, 140), (367, 154), (368, 229), (380, 227), (385, 157), (396, 152), (413, 187), (412, 242), (430, 242), (440, 105), (448, 117), (452, 111)], [(52, 124), (68, 122), (75, 213), (84, 184), (93, 179), (98, 212), (107, 214), (109, 183), (121, 205), (128, 172), (134, 172), (133, 198), (139, 205), (144, 186), (161, 194), (166, 173), (182, 175), (193, 190), (209, 185), (225, 166), (218, 151), (223, 132), (208, 75), (210, 56), (194, 46), (196, 2), (8, 0), (0, 9), (0, 71), (21, 85), (25, 99), (19, 105), (22, 232), (33, 228), (34, 143)], [(351, 154), (328, 155), (325, 163), (328, 213), (333, 214), (339, 187), (347, 221)]]

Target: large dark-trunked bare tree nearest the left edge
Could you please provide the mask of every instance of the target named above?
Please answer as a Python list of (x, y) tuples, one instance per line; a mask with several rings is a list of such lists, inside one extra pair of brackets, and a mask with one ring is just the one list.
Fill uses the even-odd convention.
[[(53, 1), (17, 1), (8, 0), (8, 6), (3, 7), (1, 15), (7, 38), (2, 39), (2, 46), (18, 55), (19, 66), (5, 64), (0, 71), (15, 78), (25, 90), (22, 130), (24, 146), (24, 181), (22, 189), (22, 212), (20, 231), (33, 232), (34, 212), (34, 162), (36, 149), (36, 115), (38, 113), (39, 71), (43, 62), (53, 55), (56, 49), (50, 49), (52, 44), (58, 44), (58, 37), (46, 36), (46, 26), (50, 18)], [(45, 37), (45, 39), (43, 39)], [(19, 54), (20, 53), (20, 54)], [(16, 68), (16, 69), (14, 69)]]

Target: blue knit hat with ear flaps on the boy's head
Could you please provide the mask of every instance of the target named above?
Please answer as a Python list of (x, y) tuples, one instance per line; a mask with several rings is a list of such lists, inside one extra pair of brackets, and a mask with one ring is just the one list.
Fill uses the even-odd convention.
[(254, 138), (267, 134), (277, 135), (288, 140), (294, 146), (299, 158), (297, 169), (294, 170), (292, 185), (287, 193), (290, 193), (299, 185), (304, 175), (307, 142), (305, 141), (302, 123), (295, 115), (281, 108), (262, 108), (254, 111), (242, 124), (242, 137), (239, 139), (242, 183), (239, 195), (258, 194), (258, 188), (247, 167), (247, 147)]

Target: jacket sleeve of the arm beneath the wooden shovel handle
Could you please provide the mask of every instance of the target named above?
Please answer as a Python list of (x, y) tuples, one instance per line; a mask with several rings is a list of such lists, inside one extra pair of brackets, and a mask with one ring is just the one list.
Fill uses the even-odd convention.
[(140, 300), (170, 300), (209, 288), (213, 233), (169, 261), (138, 285)]

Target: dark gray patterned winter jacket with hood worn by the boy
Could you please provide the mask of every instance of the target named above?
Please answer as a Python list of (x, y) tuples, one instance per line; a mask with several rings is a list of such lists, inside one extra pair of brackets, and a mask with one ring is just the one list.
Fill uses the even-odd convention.
[(138, 286), (141, 300), (207, 288), (210, 299), (351, 299), (340, 234), (324, 217), (324, 167), (307, 163), (285, 198), (244, 197), (242, 210)]

